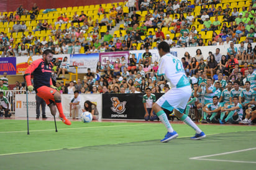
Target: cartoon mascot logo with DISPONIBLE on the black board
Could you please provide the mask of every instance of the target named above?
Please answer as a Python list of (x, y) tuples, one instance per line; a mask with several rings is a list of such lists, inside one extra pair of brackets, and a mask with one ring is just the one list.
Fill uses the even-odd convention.
[(127, 117), (127, 114), (122, 115), (126, 111), (126, 101), (120, 102), (118, 97), (111, 97), (112, 112), (117, 114), (112, 114), (111, 117)]

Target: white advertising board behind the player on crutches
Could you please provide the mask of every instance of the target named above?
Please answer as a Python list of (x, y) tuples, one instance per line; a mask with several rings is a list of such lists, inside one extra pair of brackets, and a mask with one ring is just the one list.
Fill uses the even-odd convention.
[[(62, 94), (62, 107), (63, 112), (66, 117), (70, 117), (70, 101), (74, 97), (73, 94)], [(102, 94), (80, 94), (81, 97), (81, 109), (84, 108), (85, 101), (91, 101), (96, 104), (96, 107), (99, 112), (99, 119), (102, 115)], [(36, 102), (35, 102), (35, 94), (28, 94), (28, 105), (29, 105), (29, 117), (36, 117)], [(80, 117), (82, 110), (78, 117)], [(50, 113), (50, 109), (48, 106), (45, 107), (45, 114), (47, 117), (53, 117)], [(15, 97), (15, 116), (16, 117), (27, 117), (27, 102), (25, 94), (17, 94)], [(42, 110), (40, 111), (40, 116), (42, 117)], [(58, 117), (58, 110), (57, 115)]]

